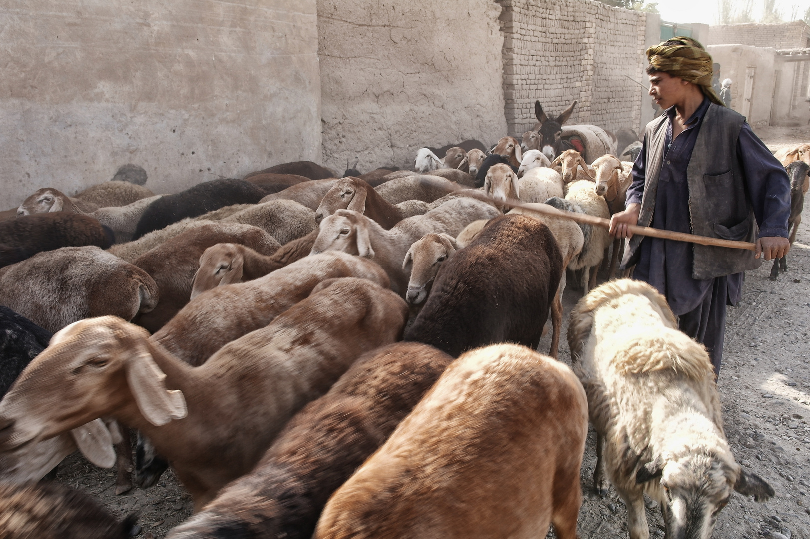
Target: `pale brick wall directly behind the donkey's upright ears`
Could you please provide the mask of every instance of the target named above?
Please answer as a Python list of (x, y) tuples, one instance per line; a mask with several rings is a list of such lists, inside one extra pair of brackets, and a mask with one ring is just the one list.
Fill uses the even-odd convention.
[(535, 124), (534, 103), (569, 123), (641, 122), (646, 15), (582, 0), (496, 0), (502, 7), (505, 117), (510, 134)]

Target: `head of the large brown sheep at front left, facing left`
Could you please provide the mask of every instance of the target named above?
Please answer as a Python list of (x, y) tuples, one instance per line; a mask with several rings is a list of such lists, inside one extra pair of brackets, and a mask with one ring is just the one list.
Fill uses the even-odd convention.
[(185, 417), (180, 391), (152, 359), (142, 327), (115, 316), (65, 327), (0, 403), (0, 451), (38, 443), (128, 405), (153, 425)]

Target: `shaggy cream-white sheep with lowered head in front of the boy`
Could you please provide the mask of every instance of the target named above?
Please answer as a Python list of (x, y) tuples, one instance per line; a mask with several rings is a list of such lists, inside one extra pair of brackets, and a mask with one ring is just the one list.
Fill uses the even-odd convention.
[(568, 339), (598, 434), (594, 486), (607, 493), (607, 472), (631, 539), (650, 534), (644, 494), (661, 504), (668, 537), (710, 537), (732, 490), (774, 494), (735, 463), (709, 355), (649, 284), (594, 289), (571, 312)]

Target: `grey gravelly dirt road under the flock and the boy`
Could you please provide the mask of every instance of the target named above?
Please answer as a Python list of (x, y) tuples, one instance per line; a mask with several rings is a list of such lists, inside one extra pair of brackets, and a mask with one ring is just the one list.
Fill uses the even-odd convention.
[[(772, 150), (783, 143), (810, 140), (810, 129), (767, 128), (757, 134)], [(745, 278), (743, 299), (729, 307), (723, 369), (718, 388), (731, 449), (745, 468), (774, 486), (776, 496), (766, 503), (734, 494), (718, 516), (712, 537), (718, 539), (810, 539), (810, 222), (799, 228), (788, 255), (788, 272), (776, 282), (768, 280), (770, 263), (763, 263)], [(565, 293), (567, 314), (580, 293)], [(550, 335), (539, 350), (548, 353)], [(570, 364), (565, 338), (560, 359)], [(584, 502), (580, 511), (580, 537), (628, 537), (624, 504), (611, 489), (607, 498), (592, 494), (595, 437), (591, 431), (582, 465)], [(114, 494), (115, 475), (70, 456), (60, 466), (58, 481), (86, 490), (116, 515), (139, 511), (143, 532), (163, 537), (191, 514), (192, 503), (169, 471), (149, 490)], [(659, 507), (648, 504), (650, 537), (663, 537)], [(553, 533), (550, 533), (553, 537)]]

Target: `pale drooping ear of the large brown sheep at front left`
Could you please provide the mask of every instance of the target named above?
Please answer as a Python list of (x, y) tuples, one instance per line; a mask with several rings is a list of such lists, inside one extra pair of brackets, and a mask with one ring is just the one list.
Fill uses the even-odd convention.
[(138, 409), (152, 425), (161, 426), (188, 413), (180, 390), (168, 390), (166, 374), (151, 357), (146, 345), (139, 344), (126, 366), (126, 380)]

